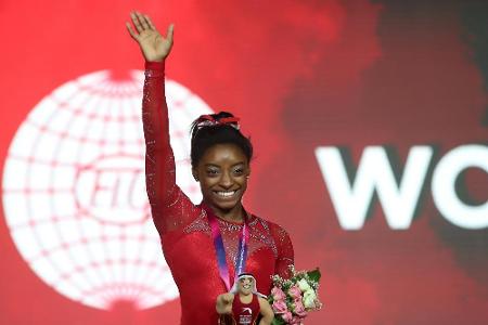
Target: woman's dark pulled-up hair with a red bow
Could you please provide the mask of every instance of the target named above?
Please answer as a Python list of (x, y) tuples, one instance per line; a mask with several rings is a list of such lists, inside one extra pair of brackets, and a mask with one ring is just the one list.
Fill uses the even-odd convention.
[(198, 166), (200, 159), (209, 147), (223, 143), (239, 146), (247, 157), (247, 161), (251, 161), (253, 144), (251, 138), (241, 133), (237, 121), (239, 119), (228, 112), (202, 115), (193, 121), (190, 129), (192, 134), (190, 157), (193, 168)]

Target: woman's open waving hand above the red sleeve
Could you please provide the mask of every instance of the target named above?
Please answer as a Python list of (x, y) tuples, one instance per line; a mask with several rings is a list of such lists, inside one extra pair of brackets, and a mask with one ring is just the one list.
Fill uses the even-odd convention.
[(136, 11), (130, 13), (130, 17), (137, 31), (130, 23), (126, 23), (127, 30), (132, 39), (139, 43), (145, 61), (160, 62), (165, 60), (171, 51), (172, 30), (175, 26), (172, 24), (169, 25), (166, 37), (163, 37), (147, 15), (143, 15)]

